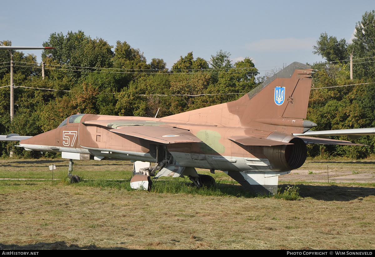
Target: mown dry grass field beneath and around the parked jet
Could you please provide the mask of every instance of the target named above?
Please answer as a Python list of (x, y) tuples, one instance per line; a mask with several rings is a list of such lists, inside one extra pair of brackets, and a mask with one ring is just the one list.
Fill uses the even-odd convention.
[[(52, 163), (59, 180), (51, 180), (47, 166)], [(312, 178), (327, 172), (310, 167), (326, 162), (305, 165), (294, 173)], [(356, 174), (375, 170), (373, 161), (350, 165), (359, 166)], [(332, 173), (352, 175), (350, 165)], [(154, 183), (151, 192), (135, 191), (128, 186), (131, 169), (127, 161), (77, 161), (73, 173), (86, 180), (68, 184), (67, 161), (0, 160), (0, 178), (13, 178), (0, 180), (0, 248), (375, 248), (371, 182), (280, 181), (281, 189), (299, 187), (299, 200), (288, 201), (251, 196), (222, 172), (214, 175), (213, 189), (195, 190), (188, 180), (166, 179)]]

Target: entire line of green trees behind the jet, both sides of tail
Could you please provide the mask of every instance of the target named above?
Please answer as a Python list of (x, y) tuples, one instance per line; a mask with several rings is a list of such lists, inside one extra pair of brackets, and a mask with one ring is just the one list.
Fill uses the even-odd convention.
[[(322, 33), (314, 46), (314, 53), (326, 60), (309, 64), (317, 70), (313, 78), (317, 89), (311, 90), (307, 119), (318, 124), (317, 130), (375, 127), (374, 17), (374, 10), (362, 16), (352, 43)], [(43, 46), (55, 48), (42, 52), (44, 78), (34, 55), (12, 51), (17, 87), (12, 121), (6, 87), (10, 81), (10, 54), (0, 51), (1, 134), (39, 134), (54, 129), (77, 112), (154, 117), (160, 108), (158, 117), (165, 117), (236, 100), (267, 79), (258, 76), (250, 58), (233, 64), (230, 53), (222, 50), (211, 55), (210, 60), (194, 58), (189, 52), (167, 69), (163, 59), (152, 58), (148, 62), (139, 49), (126, 41), (111, 46), (83, 31), (52, 33)], [(348, 61), (351, 52), (353, 81)], [(362, 85), (337, 87), (352, 84)], [(371, 147), (308, 146), (309, 155), (364, 158), (374, 154), (374, 141), (372, 136), (356, 140)], [(10, 151), (25, 157), (40, 156), (14, 148), (14, 143), (1, 142), (1, 156), (8, 156)]]

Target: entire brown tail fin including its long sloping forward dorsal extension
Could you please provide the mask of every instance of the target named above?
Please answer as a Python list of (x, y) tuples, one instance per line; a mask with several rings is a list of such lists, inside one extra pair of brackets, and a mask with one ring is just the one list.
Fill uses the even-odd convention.
[(165, 118), (255, 129), (294, 127), (299, 129), (290, 133), (302, 133), (304, 128), (316, 126), (310, 121), (303, 121), (307, 114), (313, 73), (310, 66), (294, 62), (236, 101)]

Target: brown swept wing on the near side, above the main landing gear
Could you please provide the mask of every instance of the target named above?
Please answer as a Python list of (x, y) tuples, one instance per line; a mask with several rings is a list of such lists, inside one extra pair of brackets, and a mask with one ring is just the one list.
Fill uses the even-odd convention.
[(111, 129), (110, 131), (116, 134), (139, 137), (163, 144), (202, 142), (202, 140), (190, 133), (189, 130), (172, 127), (124, 126), (120, 129)]

